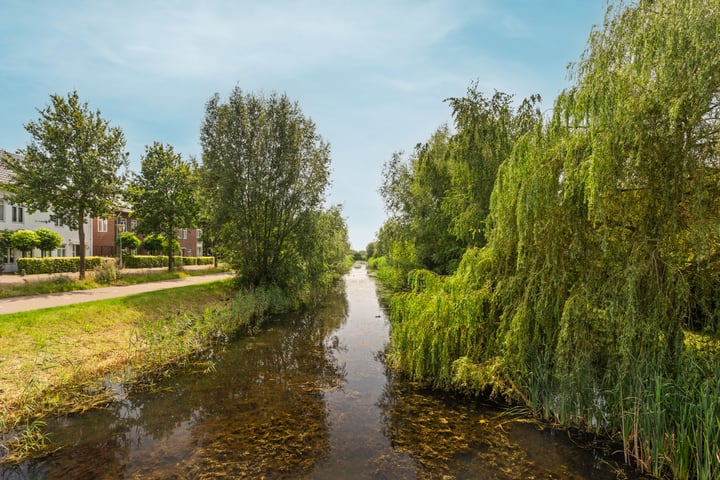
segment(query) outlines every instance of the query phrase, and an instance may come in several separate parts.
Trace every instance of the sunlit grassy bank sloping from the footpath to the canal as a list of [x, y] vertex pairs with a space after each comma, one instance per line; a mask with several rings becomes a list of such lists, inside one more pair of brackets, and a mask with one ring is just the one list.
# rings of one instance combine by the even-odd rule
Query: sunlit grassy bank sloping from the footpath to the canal
[[152, 382], [287, 305], [224, 281], [0, 316], [0, 461], [47, 452], [47, 418], [111, 401], [106, 375]]

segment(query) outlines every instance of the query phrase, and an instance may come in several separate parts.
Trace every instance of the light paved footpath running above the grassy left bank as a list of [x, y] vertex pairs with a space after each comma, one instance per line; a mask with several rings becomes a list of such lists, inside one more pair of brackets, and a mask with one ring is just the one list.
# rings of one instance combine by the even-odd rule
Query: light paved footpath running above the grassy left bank
[[61, 307], [74, 303], [94, 302], [108, 298], [126, 297], [137, 293], [154, 292], [168, 288], [185, 287], [201, 283], [215, 282], [232, 278], [231, 273], [214, 273], [196, 277], [175, 278], [160, 282], [140, 283], [137, 285], [124, 285], [120, 287], [100, 287], [90, 290], [74, 292], [50, 293], [45, 295], [32, 295], [29, 297], [13, 297], [0, 299], [0, 315], [6, 313], [26, 312], [41, 308]]

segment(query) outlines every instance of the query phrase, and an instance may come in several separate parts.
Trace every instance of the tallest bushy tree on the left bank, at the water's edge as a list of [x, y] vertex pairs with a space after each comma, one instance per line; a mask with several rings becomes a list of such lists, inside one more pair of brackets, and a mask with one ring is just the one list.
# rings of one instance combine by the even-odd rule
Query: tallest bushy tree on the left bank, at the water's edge
[[202, 125], [203, 200], [216, 249], [247, 285], [296, 286], [308, 222], [329, 185], [330, 149], [282, 94], [215, 95]]

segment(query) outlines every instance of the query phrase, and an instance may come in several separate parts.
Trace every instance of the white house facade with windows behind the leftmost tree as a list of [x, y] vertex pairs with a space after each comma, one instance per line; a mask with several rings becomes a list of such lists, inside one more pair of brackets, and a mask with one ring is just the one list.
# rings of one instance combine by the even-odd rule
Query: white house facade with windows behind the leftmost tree
[[[3, 155], [13, 155], [0, 150], [0, 159]], [[80, 255], [80, 235], [77, 230], [71, 230], [67, 225], [52, 220], [52, 212], [29, 213], [23, 205], [15, 205], [6, 200], [6, 190], [3, 185], [12, 181], [12, 172], [9, 171], [0, 161], [0, 230], [14, 232], [17, 230], [37, 230], [47, 228], [60, 234], [64, 242], [60, 248], [51, 252], [53, 257], [75, 257]], [[85, 254], [92, 252], [92, 222], [90, 219], [85, 223]], [[34, 250], [33, 257], [41, 256], [39, 250]], [[8, 248], [2, 255], [2, 272], [12, 273], [17, 271], [17, 259], [22, 256], [19, 250]], [[30, 256], [30, 252], [28, 255]]]

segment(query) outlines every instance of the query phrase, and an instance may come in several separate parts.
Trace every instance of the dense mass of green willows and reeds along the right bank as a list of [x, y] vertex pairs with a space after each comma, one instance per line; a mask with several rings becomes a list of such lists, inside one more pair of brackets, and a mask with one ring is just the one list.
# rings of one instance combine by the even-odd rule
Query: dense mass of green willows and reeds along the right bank
[[617, 2], [550, 118], [473, 85], [388, 164], [397, 368], [720, 475], [719, 35], [717, 1]]

